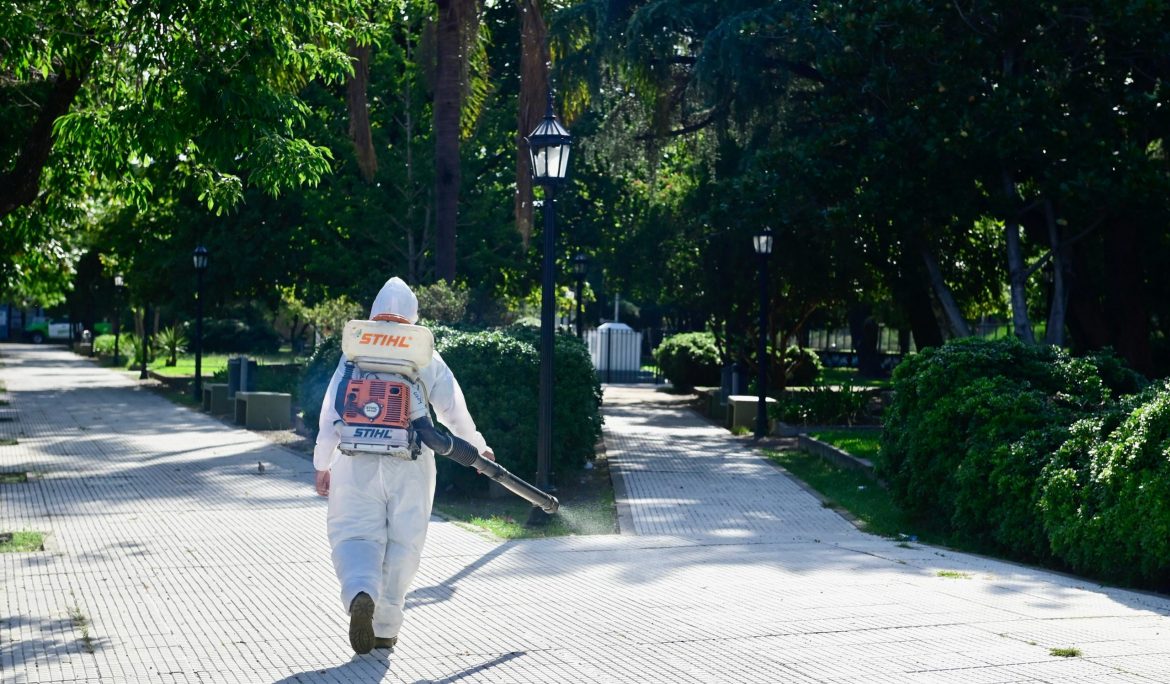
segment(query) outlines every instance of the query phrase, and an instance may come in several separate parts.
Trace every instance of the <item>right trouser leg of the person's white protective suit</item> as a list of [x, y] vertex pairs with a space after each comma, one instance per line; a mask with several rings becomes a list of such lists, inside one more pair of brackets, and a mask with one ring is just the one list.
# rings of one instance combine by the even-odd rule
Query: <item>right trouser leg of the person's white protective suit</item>
[[435, 462], [429, 449], [418, 461], [386, 460], [383, 478], [386, 546], [380, 559], [381, 592], [374, 600], [373, 630], [377, 636], [398, 636], [402, 627], [406, 592], [419, 569], [427, 521], [435, 493]]

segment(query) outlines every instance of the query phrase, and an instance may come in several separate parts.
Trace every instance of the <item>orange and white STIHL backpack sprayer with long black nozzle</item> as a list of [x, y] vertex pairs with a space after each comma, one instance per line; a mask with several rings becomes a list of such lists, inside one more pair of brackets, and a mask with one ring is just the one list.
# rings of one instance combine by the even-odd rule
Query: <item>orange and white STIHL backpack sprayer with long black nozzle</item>
[[426, 444], [440, 456], [475, 468], [545, 513], [557, 512], [557, 497], [480, 456], [466, 440], [435, 428], [426, 387], [419, 380], [434, 351], [429, 330], [383, 315], [351, 320], [342, 334], [342, 351], [347, 361], [333, 407], [340, 416], [336, 426], [343, 454], [415, 460]]

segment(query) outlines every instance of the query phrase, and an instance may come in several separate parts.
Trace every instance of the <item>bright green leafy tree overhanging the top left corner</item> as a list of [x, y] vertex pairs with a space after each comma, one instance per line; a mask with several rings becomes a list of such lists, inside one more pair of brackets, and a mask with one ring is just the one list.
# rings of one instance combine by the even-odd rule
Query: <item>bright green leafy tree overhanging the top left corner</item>
[[[0, 2], [0, 286], [29, 255], [83, 227], [88, 195], [150, 202], [153, 165], [215, 209], [246, 186], [318, 181], [325, 147], [297, 134], [297, 94], [349, 69], [351, 0]], [[68, 255], [58, 268], [68, 271]]]

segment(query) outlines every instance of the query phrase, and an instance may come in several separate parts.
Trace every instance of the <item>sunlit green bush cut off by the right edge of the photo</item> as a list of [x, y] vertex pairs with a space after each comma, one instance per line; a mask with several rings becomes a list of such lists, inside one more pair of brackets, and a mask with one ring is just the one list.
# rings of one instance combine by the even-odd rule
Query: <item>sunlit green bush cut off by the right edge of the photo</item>
[[1081, 420], [1044, 468], [1052, 552], [1079, 573], [1170, 589], [1170, 384]]

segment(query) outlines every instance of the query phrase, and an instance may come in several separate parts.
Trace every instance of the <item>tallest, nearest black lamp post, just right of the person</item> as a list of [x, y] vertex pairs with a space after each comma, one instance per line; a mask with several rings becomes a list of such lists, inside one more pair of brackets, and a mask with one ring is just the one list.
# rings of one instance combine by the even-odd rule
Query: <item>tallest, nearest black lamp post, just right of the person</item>
[[[572, 138], [552, 112], [552, 90], [549, 90], [549, 109], [544, 119], [528, 137], [528, 153], [531, 163], [532, 182], [544, 187], [544, 268], [541, 279], [541, 414], [537, 423], [536, 486], [549, 490], [550, 464], [552, 462], [552, 351], [555, 293], [553, 281], [557, 246], [556, 191], [564, 182], [569, 170], [569, 151]], [[549, 514], [534, 506], [529, 516], [530, 525], [548, 521]]]

